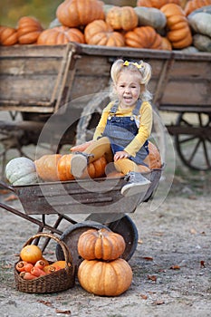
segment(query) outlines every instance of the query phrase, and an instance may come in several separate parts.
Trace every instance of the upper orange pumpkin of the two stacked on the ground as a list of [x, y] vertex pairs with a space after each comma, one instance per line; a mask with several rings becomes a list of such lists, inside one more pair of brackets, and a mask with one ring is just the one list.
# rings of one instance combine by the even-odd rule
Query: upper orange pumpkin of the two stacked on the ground
[[78, 240], [78, 253], [86, 260], [115, 260], [123, 254], [125, 247], [123, 236], [106, 228], [87, 230]]

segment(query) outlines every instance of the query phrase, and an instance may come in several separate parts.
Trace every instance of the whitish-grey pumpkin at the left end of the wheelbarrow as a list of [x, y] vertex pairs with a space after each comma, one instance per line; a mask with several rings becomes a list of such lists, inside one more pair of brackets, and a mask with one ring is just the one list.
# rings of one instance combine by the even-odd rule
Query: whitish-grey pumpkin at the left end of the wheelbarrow
[[11, 159], [5, 167], [5, 177], [14, 186], [38, 182], [34, 161], [27, 158]]

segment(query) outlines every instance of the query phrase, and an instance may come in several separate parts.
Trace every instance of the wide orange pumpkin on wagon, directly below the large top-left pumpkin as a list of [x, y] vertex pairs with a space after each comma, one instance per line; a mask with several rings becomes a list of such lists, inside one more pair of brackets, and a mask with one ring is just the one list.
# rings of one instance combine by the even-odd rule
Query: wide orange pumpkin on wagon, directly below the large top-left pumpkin
[[69, 42], [84, 43], [82, 31], [74, 27], [55, 26], [44, 30], [37, 39], [38, 45], [60, 45]]

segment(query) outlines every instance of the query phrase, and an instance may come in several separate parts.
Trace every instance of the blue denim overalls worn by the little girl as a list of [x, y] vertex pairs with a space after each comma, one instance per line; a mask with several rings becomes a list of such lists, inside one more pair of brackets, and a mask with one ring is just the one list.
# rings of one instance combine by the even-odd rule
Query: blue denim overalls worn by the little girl
[[[110, 139], [110, 146], [115, 154], [117, 151], [125, 149], [134, 136], [139, 132], [139, 127], [137, 126], [136, 119], [139, 116], [139, 109], [141, 107], [141, 101], [138, 100], [136, 107], [132, 111], [130, 117], [116, 117], [116, 112], [118, 110], [118, 102], [115, 102], [110, 109], [110, 115], [108, 117], [105, 130], [102, 134], [103, 137]], [[146, 165], [143, 160], [149, 155], [148, 140], [139, 149], [135, 157], [129, 157], [132, 161], [137, 164]]]

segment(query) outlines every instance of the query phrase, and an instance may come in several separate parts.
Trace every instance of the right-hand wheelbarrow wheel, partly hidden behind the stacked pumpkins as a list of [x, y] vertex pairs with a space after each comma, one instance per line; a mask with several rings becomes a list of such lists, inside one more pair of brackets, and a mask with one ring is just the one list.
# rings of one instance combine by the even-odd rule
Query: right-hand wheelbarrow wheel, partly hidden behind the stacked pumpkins
[[129, 261], [136, 251], [139, 234], [136, 225], [125, 214], [91, 214], [86, 220], [96, 221], [110, 228], [111, 231], [123, 236], [126, 248], [121, 257]]

